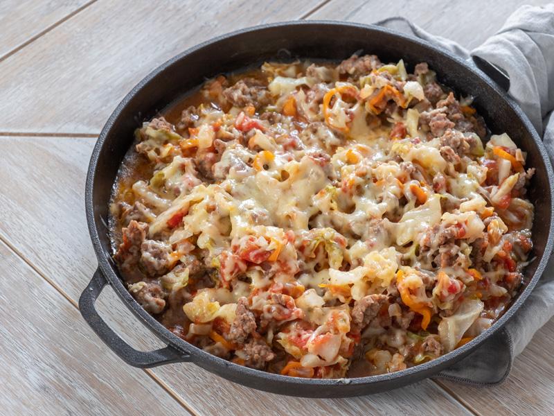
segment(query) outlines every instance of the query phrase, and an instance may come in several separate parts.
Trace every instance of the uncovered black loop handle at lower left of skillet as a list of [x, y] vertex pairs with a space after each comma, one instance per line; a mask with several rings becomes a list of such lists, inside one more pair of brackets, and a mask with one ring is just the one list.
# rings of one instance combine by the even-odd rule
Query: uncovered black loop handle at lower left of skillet
[[96, 335], [115, 352], [125, 363], [139, 368], [157, 367], [158, 365], [181, 363], [190, 361], [190, 354], [180, 352], [178, 349], [168, 345], [165, 348], [157, 349], [151, 352], [142, 352], [134, 349], [118, 336], [102, 318], [94, 307], [96, 299], [102, 289], [107, 285], [107, 281], [100, 272], [100, 269], [94, 273], [89, 286], [84, 289], [79, 298], [79, 310], [84, 320], [87, 321]]

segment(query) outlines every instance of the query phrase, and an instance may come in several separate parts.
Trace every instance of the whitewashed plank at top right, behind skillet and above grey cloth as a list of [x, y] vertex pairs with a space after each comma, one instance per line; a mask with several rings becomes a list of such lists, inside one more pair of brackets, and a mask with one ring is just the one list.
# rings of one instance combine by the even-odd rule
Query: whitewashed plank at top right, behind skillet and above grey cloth
[[[549, 0], [527, 0], [542, 6]], [[332, 0], [314, 12], [310, 19], [339, 19], [373, 23], [391, 16], [402, 16], [434, 35], [440, 35], [473, 49], [494, 35], [504, 21], [521, 6], [521, 0], [354, 0], [348, 7]]]

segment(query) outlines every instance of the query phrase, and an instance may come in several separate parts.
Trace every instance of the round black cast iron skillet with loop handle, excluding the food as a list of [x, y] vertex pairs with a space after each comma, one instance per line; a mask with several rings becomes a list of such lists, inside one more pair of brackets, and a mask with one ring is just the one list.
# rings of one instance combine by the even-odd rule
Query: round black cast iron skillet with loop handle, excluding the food
[[[123, 156], [132, 144], [134, 129], [142, 121], [155, 116], [168, 103], [219, 73], [261, 64], [264, 60], [343, 60], [355, 51], [375, 53], [384, 62], [396, 62], [403, 58], [412, 69], [418, 62], [428, 62], [429, 67], [437, 71], [441, 83], [456, 92], [475, 97], [475, 107], [493, 133], [508, 132], [517, 145], [527, 152], [528, 166], [534, 166], [537, 172], [528, 195], [535, 205], [534, 248], [531, 254], [534, 260], [526, 268], [524, 290], [500, 320], [470, 343], [428, 363], [379, 376], [320, 380], [269, 374], [224, 361], [186, 343], [135, 302], [111, 259], [107, 228], [109, 197]], [[334, 21], [294, 21], [245, 29], [195, 46], [161, 65], [136, 85], [111, 114], [93, 150], [87, 176], [87, 222], [98, 257], [98, 270], [80, 297], [80, 311], [98, 336], [123, 361], [135, 367], [192, 362], [226, 379], [253, 388], [305, 397], [367, 395], [398, 388], [437, 374], [460, 361], [501, 329], [521, 307], [537, 284], [553, 248], [553, 180], [546, 151], [530, 121], [506, 92], [474, 64], [468, 64], [422, 40], [377, 26]], [[167, 347], [153, 352], [139, 352], [107, 326], [94, 307], [96, 298], [107, 284], [146, 327], [168, 344]]]

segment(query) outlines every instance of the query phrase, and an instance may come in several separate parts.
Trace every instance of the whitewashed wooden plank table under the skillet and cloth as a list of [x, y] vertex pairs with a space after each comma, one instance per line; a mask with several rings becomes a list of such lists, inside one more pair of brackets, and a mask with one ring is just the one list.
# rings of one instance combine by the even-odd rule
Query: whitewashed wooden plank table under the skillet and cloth
[[[91, 150], [120, 99], [159, 64], [215, 35], [291, 19], [372, 22], [403, 15], [473, 47], [497, 31], [518, 3], [1, 1], [3, 414], [552, 414], [554, 322], [537, 333], [498, 387], [426, 380], [366, 397], [298, 399], [244, 388], [192, 364], [129, 367], [102, 344], [77, 309], [96, 269], [83, 201]], [[160, 345], [111, 291], [102, 293], [98, 307], [135, 347]]]

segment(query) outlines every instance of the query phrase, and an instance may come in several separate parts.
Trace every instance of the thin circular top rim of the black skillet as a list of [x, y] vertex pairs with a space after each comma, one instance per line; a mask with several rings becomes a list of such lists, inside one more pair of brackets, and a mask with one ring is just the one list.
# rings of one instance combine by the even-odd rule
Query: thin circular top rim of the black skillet
[[[515, 302], [513, 302], [510, 305], [510, 308], [505, 313], [503, 313], [501, 318], [496, 322], [494, 322], [494, 324], [492, 324], [492, 326], [489, 329], [486, 329], [485, 331], [483, 331], [483, 333], [481, 333], [479, 336], [471, 340], [469, 343], [463, 345], [462, 347], [454, 349], [452, 352], [444, 354], [443, 356], [435, 358], [434, 360], [428, 361], [427, 363], [423, 363], [420, 365], [415, 365], [414, 367], [410, 367], [406, 370], [400, 370], [400, 371], [392, 372], [388, 374], [379, 374], [375, 376], [364, 376], [364, 377], [356, 377], [356, 378], [349, 378], [349, 379], [300, 379], [297, 377], [283, 376], [280, 374], [269, 373], [262, 370], [254, 370], [249, 367], [244, 367], [242, 365], [231, 363], [230, 361], [226, 361], [222, 358], [209, 354], [208, 352], [204, 352], [202, 349], [199, 349], [198, 347], [195, 347], [194, 345], [187, 343], [186, 341], [182, 340], [175, 334], [171, 333], [168, 329], [166, 329], [166, 327], [163, 327], [163, 325], [160, 322], [155, 320], [154, 317], [152, 317], [152, 315], [146, 312], [142, 308], [142, 306], [140, 306], [139, 303], [136, 302], [136, 300], [134, 300], [134, 298], [129, 294], [129, 292], [125, 288], [123, 281], [121, 281], [121, 279], [118, 277], [117, 272], [115, 270], [115, 266], [112, 266], [110, 262], [110, 254], [105, 252], [105, 250], [102, 248], [102, 243], [100, 242], [98, 228], [96, 227], [96, 220], [94, 218], [93, 189], [94, 189], [96, 171], [98, 168], [100, 151], [105, 145], [107, 137], [109, 137], [109, 133], [111, 129], [114, 127], [114, 123], [116, 122], [116, 119], [118, 118], [120, 113], [123, 112], [125, 107], [127, 107], [127, 104], [129, 104], [129, 101], [131, 101], [132, 98], [135, 96], [135, 94], [137, 94], [143, 87], [145, 87], [146, 84], [154, 80], [154, 78], [156, 78], [161, 73], [163, 73], [163, 71], [168, 69], [172, 64], [175, 64], [175, 62], [186, 59], [187, 56], [190, 55], [191, 53], [197, 52], [210, 44], [215, 44], [216, 42], [220, 42], [222, 40], [228, 40], [231, 37], [240, 36], [247, 33], [255, 33], [257, 31], [280, 28], [283, 26], [289, 27], [289, 26], [319, 26], [319, 25], [337, 26], [337, 28], [348, 26], [348, 27], [363, 29], [364, 31], [373, 31], [373, 32], [384, 33], [387, 35], [393, 35], [394, 37], [399, 38], [403, 42], [406, 42], [406, 44], [415, 43], [415, 44], [418, 44], [419, 46], [424, 47], [425, 49], [430, 50], [431, 53], [443, 55], [444, 58], [454, 61], [454, 64], [458, 64], [459, 66], [464, 67], [467, 71], [470, 71], [472, 73], [472, 77], [481, 78], [481, 80], [484, 83], [486, 83], [489, 87], [491, 87], [497, 94], [499, 94], [499, 96], [504, 101], [506, 101], [506, 103], [508, 103], [508, 105], [512, 108], [515, 115], [519, 117], [524, 127], [526, 128], [526, 132], [528, 132], [530, 136], [533, 138], [533, 143], [536, 146], [538, 153], [542, 158], [542, 162], [544, 163], [544, 167], [546, 168], [546, 176], [549, 179], [548, 182], [550, 186], [548, 188], [548, 191], [550, 193], [551, 215], [549, 218], [550, 227], [549, 227], [548, 237], [544, 245], [544, 252], [541, 254], [541, 259], [539, 260], [539, 264], [537, 265], [537, 269], [535, 270], [533, 277], [531, 277], [531, 279], [526, 284], [525, 288], [521, 291], [521, 293], [519, 293], [517, 300], [515, 300]], [[112, 139], [112, 141], [113, 140], [114, 139]], [[120, 162], [118, 162], [118, 164], [120, 164]], [[470, 352], [474, 351], [474, 349], [479, 347], [479, 345], [484, 343], [485, 340], [488, 340], [490, 337], [492, 337], [494, 333], [497, 333], [497, 331], [501, 330], [503, 326], [506, 324], [506, 322], [508, 322], [508, 320], [510, 320], [510, 318], [512, 318], [512, 316], [515, 313], [517, 313], [517, 311], [521, 308], [522, 304], [524, 304], [525, 300], [533, 291], [533, 288], [535, 288], [537, 282], [542, 276], [542, 273], [546, 268], [546, 263], [548, 261], [548, 257], [550, 253], [552, 252], [552, 248], [554, 244], [554, 236], [553, 236], [554, 221], [553, 221], [553, 212], [552, 212], [552, 208], [554, 207], [553, 178], [554, 178], [554, 173], [550, 163], [550, 159], [546, 153], [546, 149], [544, 148], [544, 145], [542, 144], [542, 140], [540, 139], [533, 125], [530, 123], [530, 120], [528, 119], [526, 114], [524, 114], [524, 112], [521, 110], [521, 108], [519, 108], [519, 106], [515, 103], [515, 101], [513, 101], [512, 98], [508, 96], [507, 92], [504, 92], [501, 88], [499, 88], [499, 86], [496, 83], [494, 83], [483, 71], [481, 71], [481, 69], [476, 68], [473, 65], [467, 63], [465, 60], [459, 58], [458, 56], [454, 55], [450, 51], [447, 51], [446, 49], [443, 49], [441, 46], [431, 44], [417, 37], [406, 35], [404, 33], [400, 33], [398, 31], [394, 31], [389, 28], [376, 26], [374, 24], [359, 24], [359, 23], [353, 23], [349, 21], [332, 21], [332, 20], [280, 21], [273, 24], [262, 24], [258, 26], [251, 26], [249, 28], [240, 29], [238, 31], [226, 33], [224, 35], [220, 35], [210, 40], [207, 40], [206, 42], [197, 44], [196, 46], [193, 46], [187, 49], [186, 51], [179, 53], [178, 55], [171, 58], [170, 60], [167, 60], [159, 67], [151, 71], [137, 85], [135, 85], [135, 87], [133, 87], [133, 89], [128, 94], [125, 95], [125, 98], [123, 98], [123, 100], [118, 104], [114, 112], [112, 112], [112, 114], [109, 116], [109, 119], [105, 123], [104, 128], [102, 128], [102, 131], [98, 136], [96, 145], [91, 155], [91, 160], [89, 163], [89, 169], [87, 173], [87, 182], [85, 186], [85, 208], [87, 213], [87, 224], [89, 227], [89, 234], [91, 236], [91, 241], [93, 243], [93, 248], [94, 248], [96, 257], [98, 259], [98, 267], [100, 268], [102, 275], [105, 277], [105, 279], [107, 279], [111, 288], [114, 289], [114, 291], [118, 294], [118, 297], [120, 297], [120, 299], [123, 300], [126, 306], [134, 313], [136, 318], [139, 318], [139, 320], [143, 324], [145, 324], [145, 326], [148, 327], [150, 331], [152, 331], [158, 338], [168, 343], [168, 345], [178, 349], [179, 352], [189, 354], [190, 361], [192, 361], [196, 365], [199, 365], [200, 367], [208, 368], [209, 371], [212, 371], [211, 369], [213, 367], [220, 367], [220, 370], [222, 372], [228, 372], [228, 375], [229, 375], [229, 372], [231, 372], [231, 376], [234, 376], [233, 379], [240, 379], [243, 376], [247, 376], [252, 379], [257, 379], [261, 383], [256, 388], [260, 388], [261, 390], [274, 391], [274, 392], [277, 389], [266, 388], [266, 386], [268, 385], [267, 384], [268, 382], [269, 383], [277, 382], [280, 385], [289, 386], [289, 387], [298, 385], [298, 387], [301, 386], [304, 388], [307, 385], [355, 386], [355, 385], [373, 385], [373, 384], [379, 384], [382, 382], [391, 382], [395, 380], [398, 380], [400, 382], [402, 380], [404, 381], [404, 383], [399, 383], [398, 386], [400, 387], [401, 384], [402, 385], [408, 384], [408, 383], [423, 379], [427, 376], [432, 376], [437, 372], [439, 372], [440, 370], [444, 370], [448, 365], [452, 365], [457, 361], [460, 361], [462, 358], [470, 354]], [[238, 381], [238, 382], [241, 383], [241, 381]], [[251, 383], [244, 383], [244, 384], [251, 384]], [[294, 392], [287, 392], [287, 394], [291, 394], [291, 393], [292, 395], [294, 395]]]

